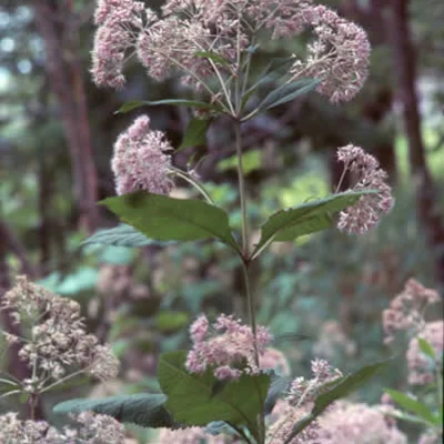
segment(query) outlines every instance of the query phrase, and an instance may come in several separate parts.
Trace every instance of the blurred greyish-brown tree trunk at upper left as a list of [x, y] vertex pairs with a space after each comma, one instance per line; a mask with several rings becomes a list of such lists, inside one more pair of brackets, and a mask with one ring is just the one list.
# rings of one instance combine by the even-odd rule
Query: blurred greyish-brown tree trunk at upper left
[[60, 115], [71, 154], [79, 224], [89, 232], [98, 223], [98, 178], [89, 128], [79, 21], [70, 1], [30, 0], [46, 50], [46, 71], [60, 105]]

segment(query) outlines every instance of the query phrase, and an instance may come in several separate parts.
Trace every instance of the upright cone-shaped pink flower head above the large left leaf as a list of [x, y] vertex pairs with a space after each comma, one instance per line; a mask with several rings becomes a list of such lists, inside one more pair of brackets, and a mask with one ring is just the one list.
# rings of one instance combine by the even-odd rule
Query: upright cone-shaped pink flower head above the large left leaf
[[114, 144], [111, 162], [118, 194], [145, 190], [169, 194], [173, 183], [169, 178], [171, 144], [161, 131], [150, 129], [150, 119], [141, 115], [121, 133]]

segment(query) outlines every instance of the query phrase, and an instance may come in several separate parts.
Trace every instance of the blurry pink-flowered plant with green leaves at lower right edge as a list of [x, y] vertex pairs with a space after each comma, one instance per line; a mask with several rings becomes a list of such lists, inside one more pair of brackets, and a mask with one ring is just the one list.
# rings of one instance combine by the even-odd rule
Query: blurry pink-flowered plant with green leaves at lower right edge
[[405, 357], [410, 387], [405, 387], [405, 393], [394, 389], [385, 391], [387, 412], [420, 425], [420, 444], [437, 444], [443, 440], [444, 321], [426, 320], [427, 309], [440, 302], [435, 290], [411, 279], [382, 316], [387, 344], [400, 332], [408, 341]]

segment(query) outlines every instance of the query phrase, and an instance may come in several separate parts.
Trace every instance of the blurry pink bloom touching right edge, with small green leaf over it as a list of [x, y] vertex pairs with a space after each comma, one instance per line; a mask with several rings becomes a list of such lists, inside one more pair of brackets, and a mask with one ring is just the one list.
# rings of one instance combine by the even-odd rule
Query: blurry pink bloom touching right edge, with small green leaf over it
[[[420, 347], [418, 337], [432, 345], [435, 359], [426, 356]], [[444, 322], [427, 322], [416, 337], [410, 341], [407, 350], [408, 383], [425, 385], [435, 380], [436, 366], [443, 371]]]

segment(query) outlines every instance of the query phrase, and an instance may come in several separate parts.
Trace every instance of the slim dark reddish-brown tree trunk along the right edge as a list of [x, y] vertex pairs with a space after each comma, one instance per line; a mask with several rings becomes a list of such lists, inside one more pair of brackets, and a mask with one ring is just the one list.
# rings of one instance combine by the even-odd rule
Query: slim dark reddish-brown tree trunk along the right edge
[[434, 253], [436, 279], [444, 285], [444, 225], [436, 204], [436, 191], [426, 164], [416, 94], [416, 60], [408, 27], [408, 0], [391, 0], [390, 29], [396, 65], [398, 99], [403, 105], [408, 140], [408, 159], [416, 188], [418, 220]]

